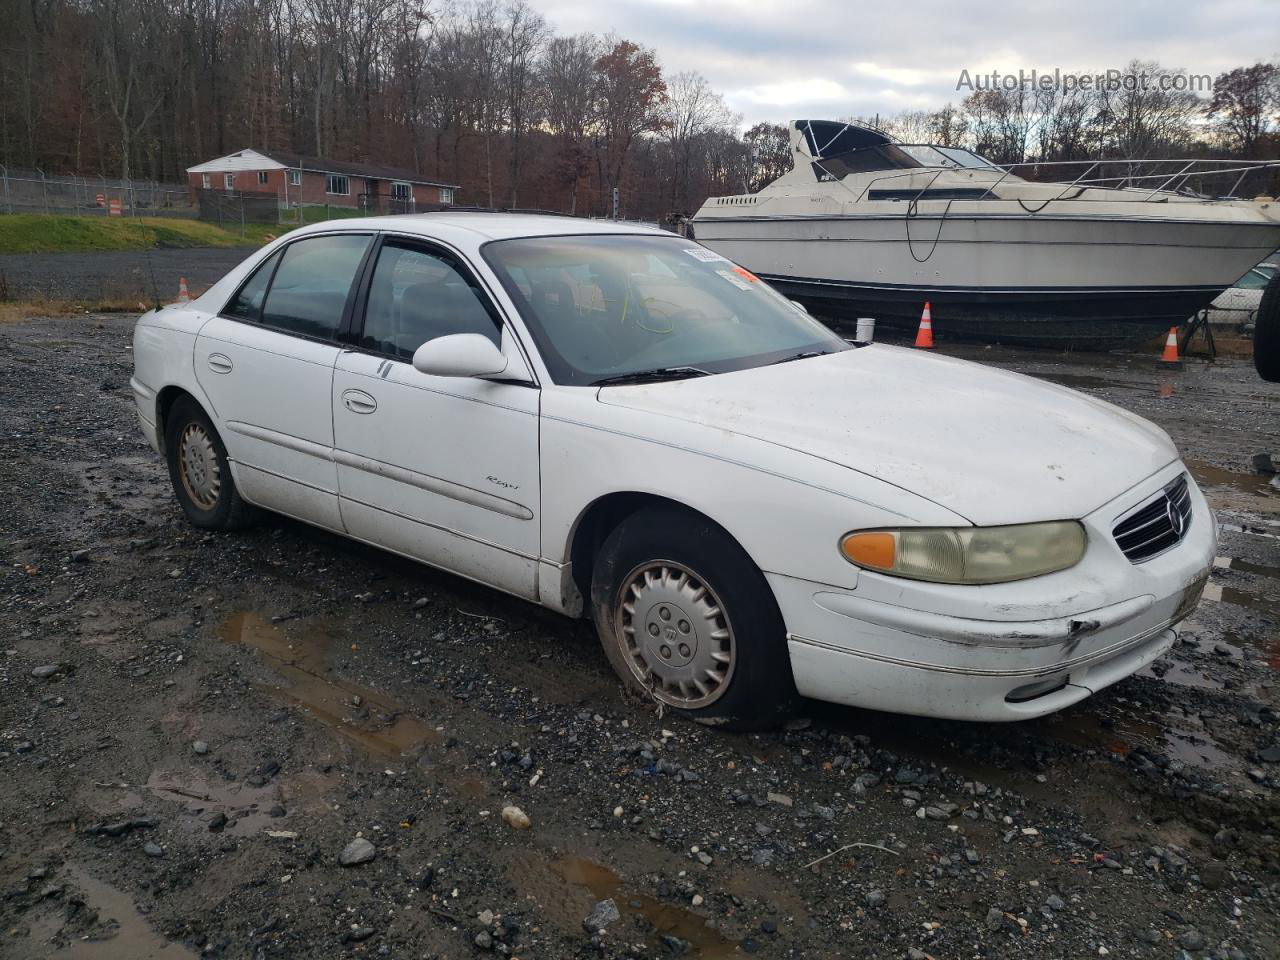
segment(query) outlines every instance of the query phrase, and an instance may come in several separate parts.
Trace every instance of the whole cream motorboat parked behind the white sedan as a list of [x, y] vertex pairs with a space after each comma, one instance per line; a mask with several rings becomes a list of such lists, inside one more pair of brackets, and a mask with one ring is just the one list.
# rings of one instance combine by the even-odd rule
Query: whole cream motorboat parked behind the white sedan
[[1280, 202], [1230, 196], [1276, 163], [1001, 166], [828, 120], [795, 122], [791, 151], [758, 193], [709, 198], [694, 236], [837, 320], [914, 328], [931, 301], [941, 335], [1112, 346], [1184, 323], [1280, 246]]

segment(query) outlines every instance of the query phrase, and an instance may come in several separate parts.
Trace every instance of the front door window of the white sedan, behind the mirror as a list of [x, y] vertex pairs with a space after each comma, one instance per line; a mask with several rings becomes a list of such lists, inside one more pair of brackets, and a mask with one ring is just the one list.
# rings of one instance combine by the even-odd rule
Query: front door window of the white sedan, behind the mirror
[[396, 241], [383, 243], [369, 287], [360, 346], [412, 360], [428, 340], [477, 333], [500, 346], [485, 294], [439, 253]]

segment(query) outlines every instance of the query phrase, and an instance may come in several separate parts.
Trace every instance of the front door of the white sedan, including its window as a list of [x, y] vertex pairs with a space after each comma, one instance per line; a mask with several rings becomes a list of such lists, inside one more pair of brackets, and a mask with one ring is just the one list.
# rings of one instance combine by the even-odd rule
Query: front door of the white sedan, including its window
[[436, 567], [536, 596], [538, 410], [530, 384], [429, 376], [426, 340], [506, 334], [452, 255], [390, 239], [378, 251], [356, 346], [333, 380], [334, 460], [347, 530]]

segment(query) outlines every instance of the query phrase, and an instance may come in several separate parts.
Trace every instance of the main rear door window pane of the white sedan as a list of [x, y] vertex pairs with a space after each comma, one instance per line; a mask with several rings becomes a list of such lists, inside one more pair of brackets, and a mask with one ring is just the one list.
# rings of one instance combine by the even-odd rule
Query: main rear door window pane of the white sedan
[[311, 237], [284, 248], [262, 307], [262, 324], [303, 337], [334, 339], [367, 236]]

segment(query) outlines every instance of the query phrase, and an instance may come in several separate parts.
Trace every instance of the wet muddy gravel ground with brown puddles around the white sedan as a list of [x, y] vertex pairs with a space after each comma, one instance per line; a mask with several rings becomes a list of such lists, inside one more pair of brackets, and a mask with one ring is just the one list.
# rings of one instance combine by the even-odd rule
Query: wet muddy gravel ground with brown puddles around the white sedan
[[1178, 442], [1222, 538], [1170, 657], [1030, 723], [735, 736], [623, 699], [584, 623], [187, 526], [131, 325], [0, 328], [0, 956], [1280, 956], [1280, 388], [1248, 362], [943, 347]]

